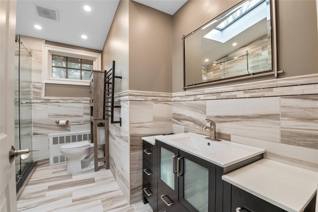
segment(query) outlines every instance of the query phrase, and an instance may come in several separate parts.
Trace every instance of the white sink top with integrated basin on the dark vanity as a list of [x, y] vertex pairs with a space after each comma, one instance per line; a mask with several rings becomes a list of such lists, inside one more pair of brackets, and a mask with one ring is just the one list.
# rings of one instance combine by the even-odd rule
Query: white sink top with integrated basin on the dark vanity
[[221, 167], [230, 166], [265, 152], [264, 149], [231, 141], [209, 140], [204, 135], [191, 132], [159, 135], [155, 139]]

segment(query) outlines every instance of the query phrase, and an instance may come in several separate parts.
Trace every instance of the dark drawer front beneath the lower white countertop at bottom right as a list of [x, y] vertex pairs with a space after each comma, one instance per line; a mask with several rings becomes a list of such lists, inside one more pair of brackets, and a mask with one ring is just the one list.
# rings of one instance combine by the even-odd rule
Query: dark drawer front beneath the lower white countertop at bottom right
[[232, 185], [231, 212], [236, 212], [238, 207], [242, 209], [241, 212], [284, 212], [283, 209]]

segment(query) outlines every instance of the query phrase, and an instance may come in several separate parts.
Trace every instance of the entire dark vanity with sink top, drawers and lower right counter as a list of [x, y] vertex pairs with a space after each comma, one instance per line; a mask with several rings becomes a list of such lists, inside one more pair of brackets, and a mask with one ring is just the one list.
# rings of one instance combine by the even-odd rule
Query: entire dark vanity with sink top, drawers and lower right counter
[[154, 212], [314, 212], [318, 173], [203, 135], [143, 137], [143, 201]]

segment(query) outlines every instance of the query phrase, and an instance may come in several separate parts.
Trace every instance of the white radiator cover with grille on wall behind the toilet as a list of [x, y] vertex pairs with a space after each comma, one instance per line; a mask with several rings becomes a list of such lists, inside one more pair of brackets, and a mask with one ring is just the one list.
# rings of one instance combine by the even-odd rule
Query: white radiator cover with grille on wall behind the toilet
[[90, 141], [90, 131], [49, 134], [50, 165], [68, 161], [60, 151], [62, 145], [84, 140]]

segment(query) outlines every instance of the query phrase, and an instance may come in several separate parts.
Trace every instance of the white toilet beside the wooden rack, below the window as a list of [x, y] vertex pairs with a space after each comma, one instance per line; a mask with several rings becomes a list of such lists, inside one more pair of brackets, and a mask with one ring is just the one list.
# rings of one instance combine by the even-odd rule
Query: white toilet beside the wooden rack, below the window
[[[72, 142], [61, 146], [60, 151], [68, 158], [68, 173], [82, 172], [94, 168], [94, 144], [86, 141]], [[98, 157], [103, 151], [98, 149]], [[98, 162], [98, 167], [104, 162]]]

